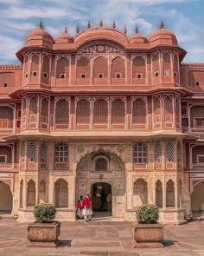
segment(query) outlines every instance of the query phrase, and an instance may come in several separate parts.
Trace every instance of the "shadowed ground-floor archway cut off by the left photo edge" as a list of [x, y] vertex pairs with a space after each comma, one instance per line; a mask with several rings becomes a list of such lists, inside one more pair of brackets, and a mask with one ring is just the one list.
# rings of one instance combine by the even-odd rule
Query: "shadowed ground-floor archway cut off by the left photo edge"
[[13, 208], [13, 195], [10, 185], [0, 181], [0, 213], [11, 213]]

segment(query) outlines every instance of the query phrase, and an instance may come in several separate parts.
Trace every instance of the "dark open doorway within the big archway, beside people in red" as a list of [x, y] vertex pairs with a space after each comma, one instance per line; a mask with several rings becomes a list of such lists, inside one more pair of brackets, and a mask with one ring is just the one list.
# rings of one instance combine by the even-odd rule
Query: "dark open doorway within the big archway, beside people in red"
[[112, 186], [106, 182], [96, 182], [92, 184], [91, 195], [93, 213], [106, 213], [106, 216], [111, 216]]

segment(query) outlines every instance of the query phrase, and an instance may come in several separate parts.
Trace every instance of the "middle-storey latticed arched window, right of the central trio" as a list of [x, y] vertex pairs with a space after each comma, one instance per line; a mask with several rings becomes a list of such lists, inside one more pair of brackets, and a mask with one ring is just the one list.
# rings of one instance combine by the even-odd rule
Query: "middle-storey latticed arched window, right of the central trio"
[[132, 106], [132, 122], [134, 124], [146, 123], [146, 102], [138, 98]]

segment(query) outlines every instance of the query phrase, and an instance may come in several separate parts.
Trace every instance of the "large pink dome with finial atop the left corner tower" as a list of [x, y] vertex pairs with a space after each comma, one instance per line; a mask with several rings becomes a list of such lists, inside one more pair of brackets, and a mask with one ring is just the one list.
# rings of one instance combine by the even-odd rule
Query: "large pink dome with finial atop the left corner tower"
[[26, 38], [25, 46], [46, 46], [52, 48], [54, 43], [53, 36], [51, 36], [40, 22], [39, 28], [29, 32]]

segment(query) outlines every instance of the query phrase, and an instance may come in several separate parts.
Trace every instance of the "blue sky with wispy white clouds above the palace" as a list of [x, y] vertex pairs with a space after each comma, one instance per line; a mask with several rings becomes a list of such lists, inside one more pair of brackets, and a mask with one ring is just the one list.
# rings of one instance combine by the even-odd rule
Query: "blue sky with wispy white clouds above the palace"
[[104, 26], [135, 31], [145, 36], [156, 30], [161, 20], [173, 30], [180, 46], [188, 51], [183, 62], [204, 62], [204, 0], [0, 0], [0, 63], [17, 63], [15, 53], [22, 48], [30, 30], [40, 19], [52, 36], [68, 32], [75, 36], [90, 20], [92, 26], [102, 18]]

